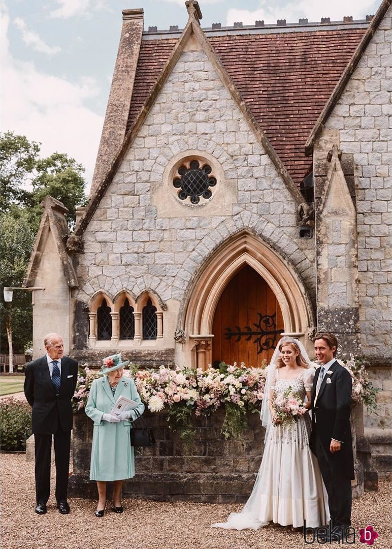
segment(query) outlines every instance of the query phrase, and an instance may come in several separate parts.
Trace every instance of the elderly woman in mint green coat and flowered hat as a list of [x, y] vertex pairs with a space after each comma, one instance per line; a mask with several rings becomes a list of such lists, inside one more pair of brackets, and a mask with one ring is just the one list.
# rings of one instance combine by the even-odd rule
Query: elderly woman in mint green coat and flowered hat
[[[124, 367], [121, 354], [104, 358], [101, 372], [103, 378], [94, 379], [86, 405], [86, 414], [94, 422], [93, 445], [91, 451], [90, 480], [96, 480], [98, 506], [96, 517], [103, 517], [106, 506], [106, 481], [113, 481], [113, 507], [115, 513], [122, 513], [121, 487], [124, 479], [135, 475], [133, 447], [130, 445], [131, 422], [137, 419], [137, 412], [144, 412], [133, 379], [123, 376]], [[119, 396], [126, 396], [138, 402], [128, 412], [111, 413]]]

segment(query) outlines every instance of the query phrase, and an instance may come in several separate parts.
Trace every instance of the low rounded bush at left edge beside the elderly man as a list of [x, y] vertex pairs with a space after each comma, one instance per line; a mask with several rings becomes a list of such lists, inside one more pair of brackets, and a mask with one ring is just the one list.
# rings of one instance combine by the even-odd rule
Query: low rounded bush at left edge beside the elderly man
[[31, 435], [31, 408], [26, 402], [12, 397], [0, 404], [0, 440], [2, 450], [26, 450], [26, 440]]

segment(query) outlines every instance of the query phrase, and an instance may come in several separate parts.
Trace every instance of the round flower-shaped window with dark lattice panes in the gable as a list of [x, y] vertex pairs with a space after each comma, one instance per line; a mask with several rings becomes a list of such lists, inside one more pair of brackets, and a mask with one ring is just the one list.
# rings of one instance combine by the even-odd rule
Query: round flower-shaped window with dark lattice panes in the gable
[[215, 187], [217, 180], [211, 176], [212, 167], [198, 160], [191, 160], [189, 165], [181, 164], [178, 176], [174, 177], [173, 186], [179, 189], [177, 195], [180, 200], [187, 200], [191, 204], [200, 203], [200, 198], [208, 200], [212, 197], [210, 187]]

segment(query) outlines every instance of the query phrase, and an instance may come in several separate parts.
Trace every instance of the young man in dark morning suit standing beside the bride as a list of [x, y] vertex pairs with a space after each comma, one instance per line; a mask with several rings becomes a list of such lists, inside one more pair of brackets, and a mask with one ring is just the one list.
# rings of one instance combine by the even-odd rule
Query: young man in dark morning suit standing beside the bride
[[350, 373], [334, 358], [338, 341], [333, 334], [316, 335], [315, 354], [321, 367], [314, 377], [310, 449], [317, 456], [328, 493], [334, 536], [351, 524], [351, 480], [354, 479], [350, 405]]

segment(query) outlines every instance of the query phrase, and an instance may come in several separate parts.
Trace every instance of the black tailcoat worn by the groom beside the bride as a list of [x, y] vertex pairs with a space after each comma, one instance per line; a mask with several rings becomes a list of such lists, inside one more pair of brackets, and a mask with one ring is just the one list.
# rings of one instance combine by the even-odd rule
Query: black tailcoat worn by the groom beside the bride
[[[350, 427], [353, 382], [347, 369], [340, 366], [337, 361], [333, 362], [332, 366], [328, 368], [328, 372], [331, 371], [332, 373], [325, 373], [316, 404], [314, 404], [320, 371], [321, 368], [317, 368], [311, 394], [312, 432], [309, 443], [310, 449], [314, 454], [316, 453], [316, 435], [318, 434], [332, 470], [339, 470], [340, 474], [343, 473], [353, 480], [354, 457]], [[331, 383], [327, 383], [328, 379], [331, 380]], [[338, 452], [332, 453], [329, 451], [331, 439], [343, 443]]]

